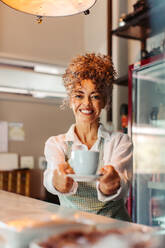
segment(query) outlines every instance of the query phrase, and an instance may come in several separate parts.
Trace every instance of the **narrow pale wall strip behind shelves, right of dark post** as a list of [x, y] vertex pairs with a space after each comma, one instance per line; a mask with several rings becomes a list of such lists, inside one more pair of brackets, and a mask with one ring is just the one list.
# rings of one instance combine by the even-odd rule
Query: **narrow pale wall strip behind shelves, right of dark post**
[[[122, 13], [127, 13], [127, 2], [122, 0], [113, 0], [113, 26], [112, 29], [118, 27], [119, 17]], [[118, 77], [127, 75], [128, 73], [128, 41], [126, 39], [112, 37], [112, 59], [117, 70]], [[120, 129], [120, 106], [122, 103], [128, 103], [128, 87], [114, 85], [113, 101], [112, 101], [112, 120], [113, 129]]]

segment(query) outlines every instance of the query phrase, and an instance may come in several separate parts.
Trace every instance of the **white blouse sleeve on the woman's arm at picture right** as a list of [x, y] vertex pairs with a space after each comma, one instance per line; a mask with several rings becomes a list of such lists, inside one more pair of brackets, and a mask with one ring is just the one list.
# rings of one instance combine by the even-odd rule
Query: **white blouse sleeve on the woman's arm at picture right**
[[127, 134], [118, 133], [112, 136], [110, 143], [107, 144], [104, 151], [107, 156], [105, 158], [105, 166], [112, 165], [120, 176], [120, 188], [116, 194], [111, 196], [103, 195], [99, 190], [99, 182], [96, 183], [98, 199], [100, 201], [118, 200], [126, 198], [129, 186], [132, 180], [132, 164], [133, 164], [133, 145]]

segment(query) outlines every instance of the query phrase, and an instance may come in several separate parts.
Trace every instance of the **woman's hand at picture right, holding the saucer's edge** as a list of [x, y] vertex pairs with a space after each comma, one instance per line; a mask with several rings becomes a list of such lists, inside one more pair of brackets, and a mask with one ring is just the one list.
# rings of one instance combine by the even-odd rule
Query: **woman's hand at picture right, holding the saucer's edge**
[[106, 165], [100, 170], [100, 173], [103, 174], [99, 180], [100, 191], [107, 196], [117, 193], [117, 190], [120, 188], [120, 176], [114, 167]]

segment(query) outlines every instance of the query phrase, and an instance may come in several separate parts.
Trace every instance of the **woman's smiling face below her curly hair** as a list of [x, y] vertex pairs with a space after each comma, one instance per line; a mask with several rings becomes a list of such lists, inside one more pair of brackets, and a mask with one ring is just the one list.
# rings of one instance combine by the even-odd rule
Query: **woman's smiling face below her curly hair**
[[70, 106], [76, 123], [97, 123], [104, 99], [92, 80], [86, 79], [76, 84], [70, 96]]

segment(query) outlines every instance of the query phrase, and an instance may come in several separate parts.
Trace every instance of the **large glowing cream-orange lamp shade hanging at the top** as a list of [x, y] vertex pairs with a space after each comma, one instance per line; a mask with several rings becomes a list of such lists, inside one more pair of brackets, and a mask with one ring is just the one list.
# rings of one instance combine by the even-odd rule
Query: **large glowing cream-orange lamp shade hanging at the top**
[[96, 0], [0, 0], [9, 7], [36, 16], [68, 16], [91, 8]]

